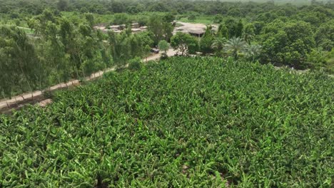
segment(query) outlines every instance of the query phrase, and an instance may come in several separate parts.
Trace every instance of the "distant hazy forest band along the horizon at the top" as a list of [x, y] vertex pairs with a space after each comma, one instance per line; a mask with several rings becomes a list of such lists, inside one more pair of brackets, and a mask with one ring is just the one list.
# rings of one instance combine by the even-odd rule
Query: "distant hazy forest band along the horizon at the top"
[[[263, 1], [262, 1], [263, 2]], [[277, 4], [278, 3], [278, 4]], [[255, 1], [246, 1], [243, 3], [233, 1], [201, 1], [201, 0], [18, 0], [8, 1], [0, 0], [0, 13], [11, 14], [12, 17], [18, 14], [38, 15], [44, 9], [57, 9], [58, 11], [81, 11], [81, 13], [96, 14], [114, 14], [128, 13], [138, 14], [143, 11], [174, 11], [182, 14], [186, 11], [192, 11], [200, 14], [221, 14], [223, 16], [246, 17], [257, 16], [268, 11], [278, 9], [290, 9], [293, 14], [295, 6], [292, 4], [279, 5], [280, 1], [273, 0], [265, 3], [256, 3]], [[300, 9], [305, 9], [308, 5], [326, 6], [333, 8], [333, 0], [328, 1], [305, 1]]]

